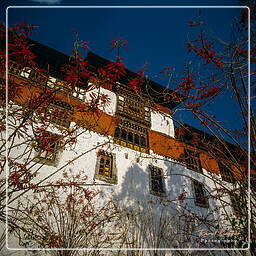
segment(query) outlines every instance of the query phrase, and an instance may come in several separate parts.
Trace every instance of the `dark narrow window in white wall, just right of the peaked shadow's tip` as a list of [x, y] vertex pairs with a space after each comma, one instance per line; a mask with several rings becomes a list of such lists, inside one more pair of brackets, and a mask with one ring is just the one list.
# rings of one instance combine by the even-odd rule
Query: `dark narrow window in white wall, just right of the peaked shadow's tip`
[[163, 169], [149, 165], [149, 190], [156, 196], [165, 196], [165, 182]]

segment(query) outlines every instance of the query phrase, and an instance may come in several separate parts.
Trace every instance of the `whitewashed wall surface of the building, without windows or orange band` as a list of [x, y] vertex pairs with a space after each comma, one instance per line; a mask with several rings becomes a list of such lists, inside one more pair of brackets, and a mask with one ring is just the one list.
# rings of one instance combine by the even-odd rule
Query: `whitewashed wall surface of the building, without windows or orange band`
[[[100, 93], [107, 94], [111, 101], [110, 105], [102, 109], [102, 111], [109, 115], [114, 115], [116, 109], [115, 93], [103, 88], [100, 90]], [[152, 130], [174, 137], [173, 120], [170, 116], [152, 111], [151, 124]], [[57, 129], [54, 127], [50, 130], [51, 132], [57, 133]], [[15, 143], [20, 144], [20, 142], [22, 142], [22, 139], [17, 140]], [[109, 184], [109, 186], [104, 186], [103, 184], [108, 183], [97, 179], [94, 180], [97, 152], [100, 149], [115, 154], [118, 176], [118, 183], [116, 185]], [[12, 151], [12, 155], [21, 156], [23, 152], [24, 145], [21, 144]], [[36, 152], [34, 152], [30, 158], [32, 159], [35, 154]], [[77, 158], [79, 155], [81, 155], [81, 157]], [[26, 156], [28, 156], [28, 154], [24, 157]], [[114, 144], [112, 138], [101, 136], [92, 131], [84, 131], [83, 134], [78, 137], [75, 148], [63, 150], [63, 152], [59, 153], [58, 158], [59, 161], [56, 167], [48, 165], [41, 166], [41, 164], [35, 164], [34, 161], [31, 162], [33, 169], [40, 167], [35, 182], [42, 180], [53, 173], [55, 174], [51, 179], [58, 180], [62, 177], [63, 171], [70, 169], [74, 175], [79, 171], [82, 171], [82, 173], [88, 177], [86, 180], [87, 183], [95, 183], [93, 188], [100, 191], [99, 204], [113, 198], [120, 207], [143, 210], [150, 202], [156, 203], [156, 207], [158, 207], [159, 203], [166, 203], [167, 207], [169, 207], [168, 204], [172, 205], [170, 211], [176, 211], [177, 213], [182, 211], [183, 207], [188, 207], [188, 209], [196, 215], [202, 217], [209, 215], [212, 209], [219, 206], [214, 199], [209, 199], [209, 208], [198, 207], [195, 205], [192, 179], [202, 182], [210, 194], [217, 186], [214, 184], [211, 177], [206, 177], [209, 176], [209, 173], [206, 172], [206, 170], [203, 170], [204, 174], [206, 174], [205, 176], [204, 174], [188, 170], [184, 165], [177, 163], [172, 159], [156, 155], [152, 151], [150, 151], [150, 154], [145, 154], [126, 147], [121, 147]], [[77, 159], [71, 162], [74, 158]], [[19, 159], [19, 161], [22, 162], [22, 158]], [[69, 162], [70, 164], [67, 165]], [[166, 187], [166, 197], [164, 198], [150, 194], [149, 165], [160, 167], [164, 171], [164, 182]], [[92, 187], [90, 186], [90, 188]], [[187, 196], [186, 199], [181, 202], [177, 200], [177, 198], [180, 193], [184, 191], [187, 192]], [[176, 209], [173, 209], [173, 207]], [[219, 213], [215, 212], [211, 218], [218, 217]], [[10, 246], [16, 247], [17, 244], [14, 244], [13, 242], [10, 243]]]

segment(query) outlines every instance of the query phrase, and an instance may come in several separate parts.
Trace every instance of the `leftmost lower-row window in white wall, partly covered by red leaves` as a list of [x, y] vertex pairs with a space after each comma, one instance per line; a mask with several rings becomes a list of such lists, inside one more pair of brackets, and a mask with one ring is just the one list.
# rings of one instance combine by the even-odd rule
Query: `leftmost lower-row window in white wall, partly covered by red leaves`
[[33, 147], [36, 152], [36, 161], [56, 166], [58, 154], [61, 148], [61, 137], [48, 131], [40, 131], [35, 134]]

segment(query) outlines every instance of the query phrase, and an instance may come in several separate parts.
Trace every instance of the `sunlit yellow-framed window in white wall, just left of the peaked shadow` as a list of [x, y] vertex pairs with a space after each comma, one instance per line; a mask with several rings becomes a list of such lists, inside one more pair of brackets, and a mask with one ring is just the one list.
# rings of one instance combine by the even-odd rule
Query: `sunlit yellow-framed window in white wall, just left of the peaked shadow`
[[97, 153], [95, 178], [109, 183], [117, 183], [115, 155], [104, 150]]

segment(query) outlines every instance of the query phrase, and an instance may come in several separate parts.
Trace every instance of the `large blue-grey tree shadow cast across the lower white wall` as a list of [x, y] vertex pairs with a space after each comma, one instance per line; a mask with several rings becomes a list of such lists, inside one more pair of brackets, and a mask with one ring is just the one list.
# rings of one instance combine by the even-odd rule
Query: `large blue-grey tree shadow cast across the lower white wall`
[[[113, 195], [123, 209], [123, 227], [127, 232], [124, 247], [197, 248], [200, 247], [198, 239], [202, 238], [199, 230], [214, 231], [212, 210], [216, 202], [208, 199], [209, 208], [196, 206], [192, 188], [192, 179], [195, 179], [209, 190], [207, 178], [176, 163], [166, 161], [164, 164], [167, 167], [166, 197], [150, 194], [148, 169], [139, 164], [132, 164], [127, 169], [120, 181], [120, 190]], [[187, 196], [179, 200], [184, 190]]]

